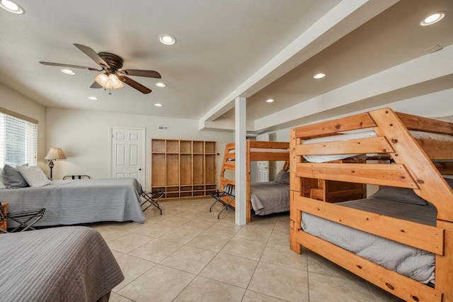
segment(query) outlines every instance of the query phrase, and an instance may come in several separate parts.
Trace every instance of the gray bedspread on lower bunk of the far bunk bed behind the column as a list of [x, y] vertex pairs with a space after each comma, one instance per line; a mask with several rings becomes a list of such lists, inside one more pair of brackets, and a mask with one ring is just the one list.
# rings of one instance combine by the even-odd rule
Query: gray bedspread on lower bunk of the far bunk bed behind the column
[[250, 201], [256, 215], [289, 211], [289, 184], [256, 182], [250, 186]]

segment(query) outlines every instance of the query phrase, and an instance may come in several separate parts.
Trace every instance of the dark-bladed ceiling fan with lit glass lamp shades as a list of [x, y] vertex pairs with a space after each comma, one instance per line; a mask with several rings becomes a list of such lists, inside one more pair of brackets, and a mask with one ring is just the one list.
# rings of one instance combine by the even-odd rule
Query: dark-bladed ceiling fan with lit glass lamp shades
[[[115, 55], [110, 52], [96, 52], [91, 47], [74, 43], [74, 46], [79, 48], [85, 55], [91, 57], [91, 60], [96, 62], [101, 69], [96, 69], [92, 67], [85, 67], [79, 65], [69, 65], [69, 64], [60, 64], [52, 62], [40, 62], [43, 65], [52, 65], [60, 67], [69, 67], [69, 68], [80, 68], [88, 69], [96, 72], [103, 72], [96, 77], [96, 81], [91, 84], [91, 88], [104, 88], [104, 89], [116, 89], [122, 87], [122, 83], [125, 83], [131, 86], [134, 89], [142, 92], [142, 94], [149, 94], [151, 89], [143, 86], [142, 84], [135, 82], [129, 76], [136, 77], [152, 77], [156, 79], [161, 79], [161, 74], [155, 72], [154, 70], [141, 70], [141, 69], [124, 69], [122, 68], [122, 57]], [[119, 80], [119, 81], [118, 81]]]

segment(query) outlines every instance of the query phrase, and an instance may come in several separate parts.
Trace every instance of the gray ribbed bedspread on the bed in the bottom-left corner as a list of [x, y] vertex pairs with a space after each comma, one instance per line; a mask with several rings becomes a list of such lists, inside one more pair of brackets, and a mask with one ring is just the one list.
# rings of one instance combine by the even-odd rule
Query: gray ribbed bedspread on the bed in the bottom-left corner
[[82, 226], [0, 235], [0, 301], [96, 301], [124, 279], [98, 231]]

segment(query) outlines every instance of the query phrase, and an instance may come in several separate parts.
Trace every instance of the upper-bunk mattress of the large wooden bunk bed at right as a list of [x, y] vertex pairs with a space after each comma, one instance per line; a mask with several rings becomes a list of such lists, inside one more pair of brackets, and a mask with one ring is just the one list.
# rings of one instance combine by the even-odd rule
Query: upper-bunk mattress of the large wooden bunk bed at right
[[[451, 142], [453, 141], [453, 135], [438, 134], [438, 133], [427, 133], [423, 131], [411, 130], [409, 131], [413, 138], [425, 139], [425, 140], [442, 140]], [[361, 138], [376, 138], [377, 134], [374, 130], [366, 130], [354, 133], [343, 133], [340, 135], [332, 135], [323, 138], [313, 138], [311, 140], [304, 140], [302, 144], [313, 144], [316, 142], [334, 142], [340, 140], [357, 140]], [[308, 162], [330, 162], [333, 160], [344, 160], [348, 157], [366, 157], [375, 156], [372, 155], [358, 155], [358, 154], [333, 154], [333, 155], [303, 155], [304, 159]]]

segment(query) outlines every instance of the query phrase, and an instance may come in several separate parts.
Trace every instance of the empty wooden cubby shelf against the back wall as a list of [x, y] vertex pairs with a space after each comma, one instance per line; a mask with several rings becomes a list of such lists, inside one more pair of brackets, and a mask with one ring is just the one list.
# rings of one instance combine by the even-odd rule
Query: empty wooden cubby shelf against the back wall
[[210, 196], [217, 188], [217, 142], [151, 140], [151, 189], [164, 199]]

